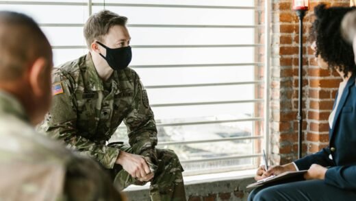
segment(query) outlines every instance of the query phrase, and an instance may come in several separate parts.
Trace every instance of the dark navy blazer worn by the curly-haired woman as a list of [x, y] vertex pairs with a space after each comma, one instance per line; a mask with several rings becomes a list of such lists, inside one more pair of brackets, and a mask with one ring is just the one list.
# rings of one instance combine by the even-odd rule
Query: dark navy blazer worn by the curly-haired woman
[[[333, 108], [335, 108], [335, 103]], [[313, 163], [324, 167], [330, 166], [325, 175], [327, 184], [341, 189], [356, 189], [355, 75], [351, 76], [346, 83], [332, 127], [329, 130], [328, 147], [298, 159], [294, 163], [300, 170], [309, 169]]]

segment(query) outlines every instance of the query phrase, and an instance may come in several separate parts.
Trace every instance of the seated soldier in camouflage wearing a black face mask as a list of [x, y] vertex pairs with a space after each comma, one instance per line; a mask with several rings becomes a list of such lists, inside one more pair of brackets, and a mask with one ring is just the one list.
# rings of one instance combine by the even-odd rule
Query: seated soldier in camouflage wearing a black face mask
[[[110, 170], [116, 185], [151, 181], [151, 200], [186, 200], [175, 152], [156, 149], [149, 99], [131, 62], [127, 18], [103, 10], [84, 26], [89, 53], [53, 72], [53, 105], [38, 126]], [[124, 121], [129, 145], [110, 143]]]

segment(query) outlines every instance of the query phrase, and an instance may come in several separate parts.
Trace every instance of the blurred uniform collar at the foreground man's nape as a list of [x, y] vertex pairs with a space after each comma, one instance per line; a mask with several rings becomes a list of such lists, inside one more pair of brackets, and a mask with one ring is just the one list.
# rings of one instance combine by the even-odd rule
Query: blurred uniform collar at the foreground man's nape
[[29, 117], [22, 104], [10, 93], [0, 90], [0, 113], [9, 113], [29, 123]]

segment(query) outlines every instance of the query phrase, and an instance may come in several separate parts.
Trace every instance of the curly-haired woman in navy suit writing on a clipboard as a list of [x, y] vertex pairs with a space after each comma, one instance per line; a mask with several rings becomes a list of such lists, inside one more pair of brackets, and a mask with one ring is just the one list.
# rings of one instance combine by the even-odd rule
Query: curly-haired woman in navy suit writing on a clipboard
[[256, 180], [283, 172], [307, 170], [305, 180], [262, 186], [249, 200], [356, 200], [356, 65], [353, 47], [342, 38], [344, 15], [355, 8], [316, 6], [312, 48], [318, 65], [337, 71], [342, 82], [329, 117], [329, 146], [292, 163], [267, 171], [257, 169]]

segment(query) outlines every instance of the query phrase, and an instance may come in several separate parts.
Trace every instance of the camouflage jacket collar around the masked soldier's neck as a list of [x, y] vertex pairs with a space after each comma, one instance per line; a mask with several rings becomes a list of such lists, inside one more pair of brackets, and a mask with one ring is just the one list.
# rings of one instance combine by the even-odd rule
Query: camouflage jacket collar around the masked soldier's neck
[[[95, 69], [90, 52], [86, 55], [86, 67], [86, 77], [88, 78], [88, 80], [86, 80], [86, 86], [89, 86], [91, 91], [104, 91], [103, 80], [101, 80], [97, 73], [97, 69]], [[114, 80], [114, 82], [118, 80], [117, 71], [114, 71], [112, 80]]]

